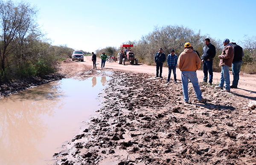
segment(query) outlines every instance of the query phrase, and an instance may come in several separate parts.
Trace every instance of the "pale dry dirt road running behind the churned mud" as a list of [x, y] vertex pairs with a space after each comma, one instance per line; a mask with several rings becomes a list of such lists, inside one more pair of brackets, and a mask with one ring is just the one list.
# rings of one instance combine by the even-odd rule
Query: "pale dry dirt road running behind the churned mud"
[[[75, 63], [77, 64], [76, 67], [66, 69], [66, 71], [68, 71], [70, 75], [80, 73], [82, 69], [93, 68], [93, 63], [91, 61], [90, 56], [85, 56], [84, 62], [82, 63], [81, 62], [75, 62]], [[101, 66], [101, 60], [98, 58], [97, 59], [98, 70], [131, 71], [131, 72], [137, 72], [137, 73], [147, 73], [147, 74], [152, 74], [152, 77], [154, 77], [156, 74], [155, 66], [149, 66], [149, 65], [140, 64], [140, 63], [139, 65], [130, 65], [130, 64], [119, 65], [117, 62], [111, 62], [111, 63], [106, 62], [105, 68], [102, 69], [100, 66]], [[74, 68], [76, 69], [74, 70]], [[74, 70], [74, 73], [71, 70], [72, 71]], [[181, 71], [179, 69], [176, 69], [176, 74], [177, 74], [178, 82], [181, 83]], [[202, 82], [204, 79], [203, 71], [198, 70], [197, 74], [198, 74], [199, 82]], [[166, 67], [163, 67], [163, 77], [165, 79], [167, 79], [168, 77], [168, 68]], [[173, 79], [173, 74], [171, 75], [171, 78]], [[213, 84], [218, 85], [220, 78], [221, 78], [220, 72], [213, 72]], [[233, 75], [232, 75], [232, 71], [230, 71], [230, 82], [232, 81], [233, 81]], [[232, 83], [230, 85], [232, 85]], [[248, 97], [248, 98], [251, 98], [252, 100], [256, 100], [256, 75], [240, 73], [240, 80], [239, 80], [238, 87], [239, 87], [238, 89], [231, 89], [231, 91], [234, 91], [240, 94], [241, 97]]]

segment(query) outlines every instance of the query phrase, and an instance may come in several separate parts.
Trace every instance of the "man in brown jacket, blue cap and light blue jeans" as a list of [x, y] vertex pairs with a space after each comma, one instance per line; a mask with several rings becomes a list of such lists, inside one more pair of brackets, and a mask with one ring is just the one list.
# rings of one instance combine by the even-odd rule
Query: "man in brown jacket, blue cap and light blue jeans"
[[[232, 61], [234, 58], [234, 46], [230, 43], [229, 39], [225, 39], [223, 41], [223, 45], [225, 46], [221, 55], [218, 57], [220, 58], [219, 66], [221, 66], [221, 82], [215, 88], [221, 88], [221, 91], [230, 91], [230, 76], [229, 76], [229, 69], [232, 66]], [[223, 90], [225, 85], [225, 89]]]

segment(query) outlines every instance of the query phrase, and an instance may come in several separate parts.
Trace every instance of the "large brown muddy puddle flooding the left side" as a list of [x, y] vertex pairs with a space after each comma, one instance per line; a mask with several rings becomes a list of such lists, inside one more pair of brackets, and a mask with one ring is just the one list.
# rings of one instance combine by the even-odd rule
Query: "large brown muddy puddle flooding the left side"
[[48, 165], [100, 108], [109, 77], [63, 79], [0, 98], [0, 165]]

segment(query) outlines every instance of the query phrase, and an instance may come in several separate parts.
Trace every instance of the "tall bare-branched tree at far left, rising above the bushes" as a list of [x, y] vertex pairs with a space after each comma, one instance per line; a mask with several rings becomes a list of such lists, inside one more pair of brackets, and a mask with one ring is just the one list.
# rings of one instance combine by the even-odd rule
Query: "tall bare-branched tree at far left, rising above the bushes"
[[36, 26], [36, 13], [35, 7], [31, 7], [29, 3], [0, 1], [0, 57], [3, 71], [6, 68], [6, 59], [19, 45], [22, 55], [24, 39], [32, 34]]

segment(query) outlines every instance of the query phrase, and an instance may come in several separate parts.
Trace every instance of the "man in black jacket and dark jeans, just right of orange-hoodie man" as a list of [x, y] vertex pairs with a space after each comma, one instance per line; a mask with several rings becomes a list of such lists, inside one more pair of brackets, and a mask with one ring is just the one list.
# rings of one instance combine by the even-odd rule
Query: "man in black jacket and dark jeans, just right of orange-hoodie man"
[[208, 85], [212, 85], [212, 77], [213, 77], [213, 72], [212, 72], [212, 59], [216, 55], [216, 49], [215, 46], [210, 43], [210, 39], [206, 38], [204, 40], [205, 46], [203, 48], [203, 53], [202, 53], [202, 63], [203, 65], [203, 70], [204, 70], [204, 83], [207, 83], [207, 77], [208, 77], [208, 71], [209, 71], [209, 83]]

